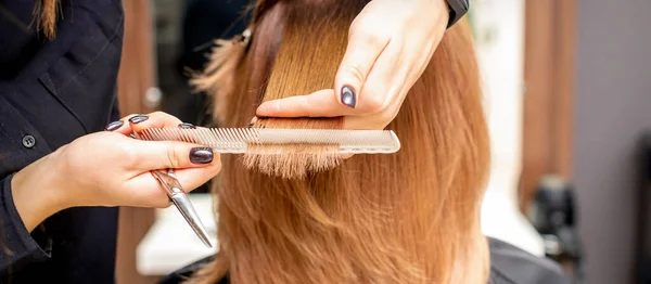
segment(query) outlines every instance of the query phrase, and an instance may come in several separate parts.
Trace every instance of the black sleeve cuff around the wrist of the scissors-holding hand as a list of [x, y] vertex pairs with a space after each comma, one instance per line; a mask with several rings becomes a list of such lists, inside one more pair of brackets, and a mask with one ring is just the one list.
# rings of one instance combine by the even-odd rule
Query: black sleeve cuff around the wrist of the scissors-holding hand
[[13, 175], [0, 180], [0, 283], [23, 268], [50, 258], [52, 241], [36, 228], [30, 234], [11, 193]]

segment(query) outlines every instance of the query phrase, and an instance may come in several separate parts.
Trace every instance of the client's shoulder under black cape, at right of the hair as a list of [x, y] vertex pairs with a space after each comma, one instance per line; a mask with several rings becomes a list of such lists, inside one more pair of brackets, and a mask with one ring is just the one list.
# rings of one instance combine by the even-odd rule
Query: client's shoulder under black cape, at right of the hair
[[548, 258], [534, 256], [502, 241], [488, 237], [490, 284], [570, 284], [563, 269]]

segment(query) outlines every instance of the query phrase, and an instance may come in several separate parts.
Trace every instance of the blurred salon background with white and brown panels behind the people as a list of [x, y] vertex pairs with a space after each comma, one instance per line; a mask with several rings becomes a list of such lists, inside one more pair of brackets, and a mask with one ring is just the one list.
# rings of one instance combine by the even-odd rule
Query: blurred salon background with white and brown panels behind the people
[[[245, 29], [247, 3], [125, 1], [122, 112], [215, 126], [188, 79], [213, 40]], [[651, 283], [650, 11], [646, 0], [471, 0], [494, 152], [483, 229], [575, 283]], [[207, 189], [191, 196], [214, 235]], [[214, 253], [174, 207], [122, 208], [118, 283], [154, 283]]]

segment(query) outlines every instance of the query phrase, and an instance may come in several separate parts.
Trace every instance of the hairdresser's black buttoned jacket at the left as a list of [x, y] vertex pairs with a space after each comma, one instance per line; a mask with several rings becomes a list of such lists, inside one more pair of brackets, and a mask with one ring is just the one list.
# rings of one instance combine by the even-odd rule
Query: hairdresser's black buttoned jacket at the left
[[60, 2], [48, 41], [36, 0], [0, 1], [0, 283], [115, 282], [117, 208], [64, 210], [29, 234], [11, 193], [14, 172], [119, 118], [122, 1]]

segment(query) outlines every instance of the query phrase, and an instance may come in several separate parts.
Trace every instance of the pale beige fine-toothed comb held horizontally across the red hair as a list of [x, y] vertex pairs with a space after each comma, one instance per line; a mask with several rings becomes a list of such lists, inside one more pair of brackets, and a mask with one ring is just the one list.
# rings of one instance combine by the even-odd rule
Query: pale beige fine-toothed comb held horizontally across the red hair
[[213, 147], [218, 153], [246, 153], [248, 145], [339, 145], [342, 154], [390, 154], [400, 149], [391, 130], [281, 128], [149, 128], [138, 133], [148, 141], [183, 141]]

